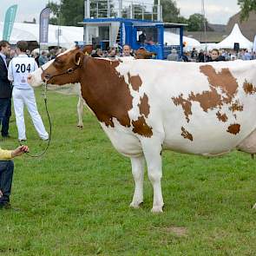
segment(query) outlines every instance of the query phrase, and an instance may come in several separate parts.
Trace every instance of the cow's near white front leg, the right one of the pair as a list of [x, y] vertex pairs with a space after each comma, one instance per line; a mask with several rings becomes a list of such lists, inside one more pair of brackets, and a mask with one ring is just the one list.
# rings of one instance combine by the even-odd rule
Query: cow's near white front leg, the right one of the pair
[[153, 213], [162, 213], [164, 205], [161, 194], [161, 141], [156, 139], [148, 139], [143, 143], [143, 153], [148, 166], [148, 178], [151, 181], [154, 190]]

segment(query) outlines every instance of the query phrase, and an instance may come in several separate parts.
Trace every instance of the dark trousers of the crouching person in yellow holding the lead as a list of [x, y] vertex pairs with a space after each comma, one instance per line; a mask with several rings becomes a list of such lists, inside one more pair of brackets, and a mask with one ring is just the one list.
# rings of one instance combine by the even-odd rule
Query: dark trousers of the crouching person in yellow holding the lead
[[0, 205], [10, 201], [13, 169], [13, 161], [0, 161], [0, 190], [3, 193], [3, 196], [0, 197]]

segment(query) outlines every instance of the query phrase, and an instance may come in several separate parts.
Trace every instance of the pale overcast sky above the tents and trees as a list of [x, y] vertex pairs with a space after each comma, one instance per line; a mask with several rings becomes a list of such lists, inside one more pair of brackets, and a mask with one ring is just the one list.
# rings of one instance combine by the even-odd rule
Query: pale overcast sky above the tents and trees
[[[45, 7], [49, 0], [0, 0], [0, 22], [4, 21], [5, 11], [12, 4], [18, 4], [16, 14], [16, 22], [31, 21], [33, 17], [38, 23], [40, 11]], [[75, 0], [74, 0], [75, 1]], [[140, 2], [149, 2], [144, 0]], [[52, 0], [59, 3], [60, 0]], [[240, 7], [237, 5], [237, 0], [205, 0], [205, 10], [207, 20], [210, 23], [226, 24], [229, 17], [237, 13]], [[178, 8], [181, 10], [181, 15], [188, 17], [194, 13], [201, 13], [201, 0], [176, 0]]]

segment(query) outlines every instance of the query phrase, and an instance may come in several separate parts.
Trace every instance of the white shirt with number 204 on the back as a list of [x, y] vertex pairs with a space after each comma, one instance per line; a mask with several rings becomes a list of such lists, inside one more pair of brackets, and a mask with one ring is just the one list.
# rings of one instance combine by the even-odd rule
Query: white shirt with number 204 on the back
[[10, 61], [8, 79], [16, 89], [32, 89], [27, 82], [27, 77], [36, 69], [38, 66], [34, 58], [20, 54]]

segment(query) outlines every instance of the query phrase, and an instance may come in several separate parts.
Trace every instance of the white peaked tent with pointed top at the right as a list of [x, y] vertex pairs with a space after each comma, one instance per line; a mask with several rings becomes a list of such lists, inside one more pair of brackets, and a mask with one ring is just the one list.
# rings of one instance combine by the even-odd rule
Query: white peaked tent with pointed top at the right
[[234, 43], [240, 43], [240, 49], [249, 49], [253, 48], [253, 43], [249, 41], [246, 36], [243, 36], [240, 27], [237, 23], [233, 26], [233, 30], [229, 36], [216, 44], [216, 48], [218, 49], [233, 49]]

